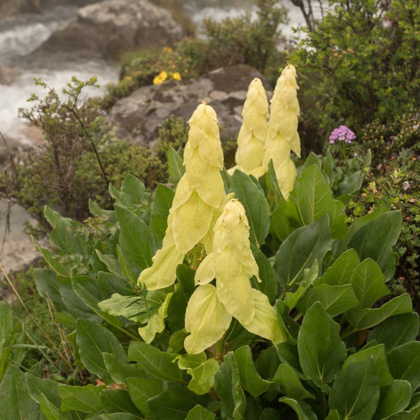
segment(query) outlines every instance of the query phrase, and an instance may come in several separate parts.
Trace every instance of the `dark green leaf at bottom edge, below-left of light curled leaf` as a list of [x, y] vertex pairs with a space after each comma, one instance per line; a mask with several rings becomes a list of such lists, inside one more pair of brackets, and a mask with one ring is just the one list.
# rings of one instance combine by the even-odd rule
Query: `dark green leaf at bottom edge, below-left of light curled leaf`
[[196, 405], [207, 407], [210, 398], [197, 395], [187, 388], [173, 386], [148, 400], [152, 418], [159, 420], [185, 420]]

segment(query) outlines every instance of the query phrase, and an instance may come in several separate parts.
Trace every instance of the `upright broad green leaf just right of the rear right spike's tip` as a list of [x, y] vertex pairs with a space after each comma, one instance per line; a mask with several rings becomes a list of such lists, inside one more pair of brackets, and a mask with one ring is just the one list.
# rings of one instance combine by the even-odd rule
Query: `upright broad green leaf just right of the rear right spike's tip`
[[309, 225], [328, 214], [335, 214], [334, 199], [324, 175], [317, 165], [307, 167], [298, 177], [290, 193], [295, 203], [300, 223]]

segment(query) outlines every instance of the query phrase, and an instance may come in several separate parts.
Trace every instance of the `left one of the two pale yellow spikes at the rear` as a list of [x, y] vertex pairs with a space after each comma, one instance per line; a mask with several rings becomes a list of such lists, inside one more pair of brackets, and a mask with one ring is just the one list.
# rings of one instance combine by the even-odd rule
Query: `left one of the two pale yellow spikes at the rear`
[[267, 133], [268, 100], [261, 80], [251, 81], [242, 110], [243, 123], [238, 135], [236, 166], [229, 169], [233, 174], [239, 169], [247, 175], [259, 178], [264, 174], [262, 166], [264, 142]]

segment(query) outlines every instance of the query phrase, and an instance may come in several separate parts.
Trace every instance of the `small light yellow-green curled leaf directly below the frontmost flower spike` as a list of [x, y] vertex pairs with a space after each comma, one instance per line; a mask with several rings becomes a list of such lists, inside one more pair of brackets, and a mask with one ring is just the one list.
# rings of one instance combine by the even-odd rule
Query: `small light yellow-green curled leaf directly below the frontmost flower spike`
[[192, 376], [188, 389], [198, 395], [206, 394], [215, 384], [215, 373], [219, 363], [215, 359], [208, 359], [204, 352], [177, 356], [178, 366]]

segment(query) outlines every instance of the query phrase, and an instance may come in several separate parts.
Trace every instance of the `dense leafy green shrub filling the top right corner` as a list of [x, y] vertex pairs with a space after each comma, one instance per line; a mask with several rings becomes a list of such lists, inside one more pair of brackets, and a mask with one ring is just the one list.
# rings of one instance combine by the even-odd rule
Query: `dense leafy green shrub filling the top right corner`
[[311, 80], [307, 92], [317, 98], [311, 108], [320, 127], [330, 131], [345, 121], [359, 131], [418, 108], [417, 2], [343, 0], [331, 8], [291, 53]]

